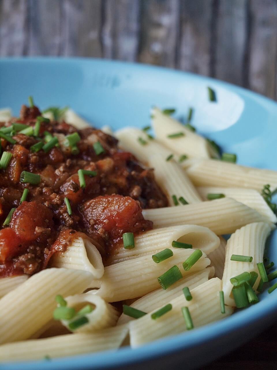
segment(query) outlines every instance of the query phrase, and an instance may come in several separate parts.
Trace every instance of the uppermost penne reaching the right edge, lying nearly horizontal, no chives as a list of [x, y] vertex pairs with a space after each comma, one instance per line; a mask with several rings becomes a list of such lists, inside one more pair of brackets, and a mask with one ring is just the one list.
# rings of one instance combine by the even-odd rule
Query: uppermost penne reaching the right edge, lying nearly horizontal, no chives
[[195, 186], [250, 188], [259, 192], [266, 184], [270, 184], [272, 191], [277, 187], [277, 171], [212, 159], [195, 161], [187, 168], [187, 174]]

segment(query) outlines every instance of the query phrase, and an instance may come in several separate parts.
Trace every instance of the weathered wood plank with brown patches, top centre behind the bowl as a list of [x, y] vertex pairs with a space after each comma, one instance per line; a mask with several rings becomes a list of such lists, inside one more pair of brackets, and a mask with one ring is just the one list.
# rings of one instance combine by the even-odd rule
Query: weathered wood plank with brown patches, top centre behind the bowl
[[179, 29], [178, 0], [141, 0], [141, 39], [138, 60], [175, 67]]

